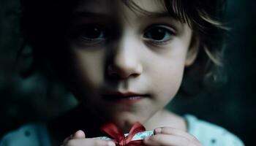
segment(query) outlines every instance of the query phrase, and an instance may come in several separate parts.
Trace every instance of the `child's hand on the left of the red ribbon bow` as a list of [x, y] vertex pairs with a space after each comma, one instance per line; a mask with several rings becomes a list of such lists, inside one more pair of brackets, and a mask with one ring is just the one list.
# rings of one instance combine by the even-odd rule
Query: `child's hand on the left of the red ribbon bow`
[[75, 134], [70, 135], [61, 146], [115, 146], [115, 143], [110, 140], [101, 140], [95, 138], [86, 138], [86, 134], [79, 130]]

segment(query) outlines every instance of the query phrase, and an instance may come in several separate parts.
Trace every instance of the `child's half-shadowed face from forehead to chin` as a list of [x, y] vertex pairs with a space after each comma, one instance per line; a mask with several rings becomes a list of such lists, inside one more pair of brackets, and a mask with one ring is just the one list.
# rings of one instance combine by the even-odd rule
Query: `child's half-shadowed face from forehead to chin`
[[176, 95], [184, 66], [192, 63], [187, 23], [167, 16], [159, 0], [135, 3], [160, 15], [132, 11], [120, 0], [84, 0], [68, 31], [75, 96], [119, 126], [151, 120]]

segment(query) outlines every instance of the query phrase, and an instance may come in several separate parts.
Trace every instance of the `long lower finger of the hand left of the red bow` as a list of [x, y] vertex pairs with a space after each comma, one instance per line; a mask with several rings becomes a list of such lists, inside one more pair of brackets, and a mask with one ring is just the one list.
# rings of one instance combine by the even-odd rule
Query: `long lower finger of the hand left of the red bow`
[[67, 146], [84, 146], [84, 145], [91, 145], [91, 146], [116, 146], [113, 141], [110, 140], [101, 140], [101, 139], [70, 139]]

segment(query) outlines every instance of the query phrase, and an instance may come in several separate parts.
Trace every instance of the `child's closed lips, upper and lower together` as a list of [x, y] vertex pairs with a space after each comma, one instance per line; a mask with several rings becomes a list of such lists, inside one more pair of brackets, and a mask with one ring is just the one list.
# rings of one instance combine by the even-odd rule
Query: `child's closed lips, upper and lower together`
[[103, 99], [107, 101], [118, 102], [121, 104], [134, 104], [141, 99], [148, 97], [147, 94], [140, 93], [121, 93], [121, 92], [109, 92], [102, 95]]

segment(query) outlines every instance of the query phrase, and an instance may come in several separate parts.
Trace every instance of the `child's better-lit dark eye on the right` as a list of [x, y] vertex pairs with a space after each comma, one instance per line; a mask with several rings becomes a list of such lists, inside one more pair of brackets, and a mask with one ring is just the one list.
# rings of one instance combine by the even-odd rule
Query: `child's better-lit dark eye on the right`
[[173, 38], [174, 32], [168, 26], [151, 26], [147, 29], [146, 33], [143, 35], [145, 39], [149, 41], [162, 43], [167, 42]]

